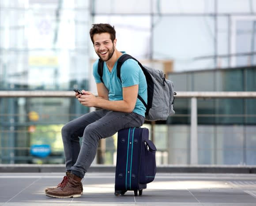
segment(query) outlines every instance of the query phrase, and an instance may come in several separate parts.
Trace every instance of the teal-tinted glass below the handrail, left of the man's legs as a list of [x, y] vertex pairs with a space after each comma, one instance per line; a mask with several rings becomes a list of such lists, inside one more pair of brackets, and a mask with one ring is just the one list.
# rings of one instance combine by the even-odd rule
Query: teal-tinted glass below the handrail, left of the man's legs
[[[88, 112], [75, 98], [1, 98], [0, 105], [2, 163], [63, 163], [62, 125]], [[34, 144], [49, 145], [49, 157], [31, 156]]]

